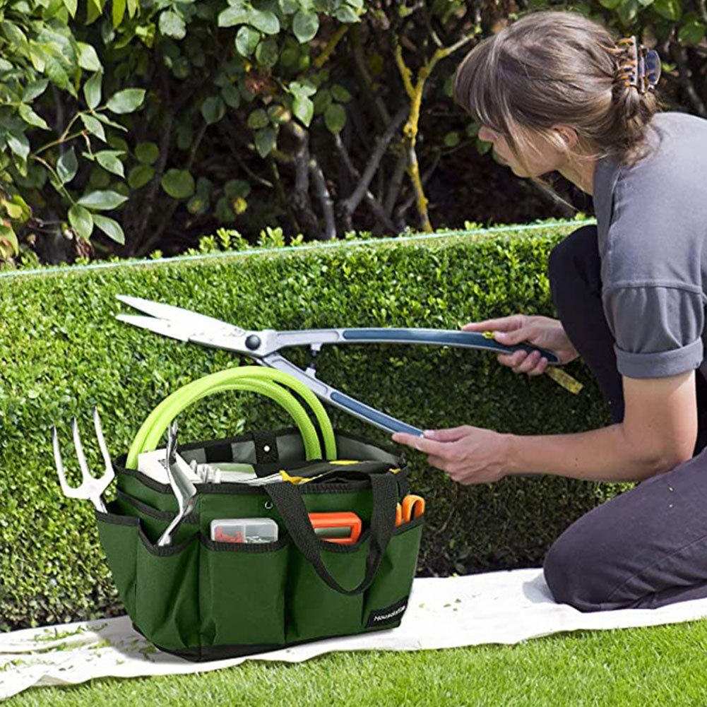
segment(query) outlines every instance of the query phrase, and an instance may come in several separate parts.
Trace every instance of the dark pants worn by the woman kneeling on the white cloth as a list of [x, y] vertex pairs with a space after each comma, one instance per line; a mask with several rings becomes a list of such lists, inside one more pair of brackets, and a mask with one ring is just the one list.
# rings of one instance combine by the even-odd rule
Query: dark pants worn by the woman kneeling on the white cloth
[[[596, 226], [553, 248], [549, 280], [559, 319], [620, 422], [624, 395], [602, 310]], [[593, 508], [556, 539], [543, 570], [557, 602], [592, 612], [707, 597], [707, 382], [699, 371], [695, 378], [694, 456]]]

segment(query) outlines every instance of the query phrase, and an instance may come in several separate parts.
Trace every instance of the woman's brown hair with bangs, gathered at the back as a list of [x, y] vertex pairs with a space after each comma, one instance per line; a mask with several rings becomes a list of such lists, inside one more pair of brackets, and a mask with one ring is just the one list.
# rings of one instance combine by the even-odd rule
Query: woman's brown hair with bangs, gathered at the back
[[[662, 107], [653, 91], [638, 93], [619, 76], [625, 49], [600, 23], [578, 12], [536, 11], [479, 42], [455, 73], [454, 100], [479, 122], [506, 137], [525, 166], [530, 132], [557, 148], [550, 128], [575, 129], [593, 158], [622, 164], [645, 156], [650, 119]], [[548, 187], [548, 182], [536, 179]]]

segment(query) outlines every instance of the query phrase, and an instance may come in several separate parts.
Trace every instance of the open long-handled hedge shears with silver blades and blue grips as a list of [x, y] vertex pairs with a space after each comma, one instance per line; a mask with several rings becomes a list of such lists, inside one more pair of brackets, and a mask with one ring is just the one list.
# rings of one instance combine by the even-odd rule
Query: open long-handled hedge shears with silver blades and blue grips
[[[296, 329], [276, 331], [262, 329], [249, 331], [214, 317], [192, 312], [173, 305], [153, 302], [141, 297], [117, 295], [124, 304], [144, 312], [141, 315], [116, 315], [121, 322], [150, 329], [165, 337], [179, 341], [191, 341], [213, 349], [226, 349], [255, 358], [262, 366], [269, 366], [293, 375], [303, 382], [317, 397], [387, 432], [407, 432], [421, 436], [422, 430], [370, 407], [342, 393], [316, 377], [314, 361], [307, 370], [298, 368], [279, 351], [288, 346], [309, 346], [314, 358], [325, 344], [438, 344], [460, 346], [467, 349], [485, 349], [501, 354], [512, 354], [523, 349], [534, 351], [533, 346], [516, 344], [505, 346], [480, 332], [457, 332], [452, 329]], [[537, 349], [551, 365], [559, 364], [559, 358], [551, 351]]]

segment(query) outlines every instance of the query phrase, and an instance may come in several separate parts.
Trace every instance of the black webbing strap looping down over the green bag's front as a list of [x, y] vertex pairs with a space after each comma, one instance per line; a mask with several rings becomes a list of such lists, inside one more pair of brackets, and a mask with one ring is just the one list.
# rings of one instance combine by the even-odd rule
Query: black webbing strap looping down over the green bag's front
[[296, 484], [265, 484], [262, 488], [279, 510], [285, 526], [299, 551], [312, 564], [322, 580], [337, 592], [356, 595], [366, 591], [375, 579], [385, 548], [390, 542], [395, 527], [395, 507], [397, 505], [397, 479], [395, 474], [369, 474], [373, 490], [373, 513], [370, 518], [370, 539], [366, 556], [366, 574], [358, 587], [345, 589], [327, 570], [302, 494]]

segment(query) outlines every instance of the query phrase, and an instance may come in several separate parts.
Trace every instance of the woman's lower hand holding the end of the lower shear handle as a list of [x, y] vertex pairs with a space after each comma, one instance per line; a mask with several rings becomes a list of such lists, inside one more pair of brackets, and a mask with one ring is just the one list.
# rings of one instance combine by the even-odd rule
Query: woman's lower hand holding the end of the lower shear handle
[[491, 484], [506, 476], [508, 435], [463, 425], [426, 430], [424, 437], [396, 432], [392, 440], [426, 452], [433, 467], [460, 484]]

